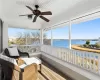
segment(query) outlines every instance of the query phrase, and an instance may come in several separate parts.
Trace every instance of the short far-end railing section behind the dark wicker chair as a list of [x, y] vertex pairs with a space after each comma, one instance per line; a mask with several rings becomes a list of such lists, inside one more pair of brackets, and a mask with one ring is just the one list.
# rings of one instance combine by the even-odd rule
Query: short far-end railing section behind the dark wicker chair
[[17, 45], [16, 46], [22, 52], [34, 53], [40, 51], [40, 46], [33, 46], [33, 45]]

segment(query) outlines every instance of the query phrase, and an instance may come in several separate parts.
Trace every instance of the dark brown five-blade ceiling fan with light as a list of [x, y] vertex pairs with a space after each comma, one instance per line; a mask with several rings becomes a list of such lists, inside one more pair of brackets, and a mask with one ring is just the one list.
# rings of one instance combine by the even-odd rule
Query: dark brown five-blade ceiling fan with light
[[33, 10], [30, 6], [26, 6], [26, 7], [32, 11], [32, 14], [19, 15], [19, 16], [27, 16], [28, 19], [32, 19], [33, 15], [35, 15], [33, 22], [36, 22], [37, 17], [40, 17], [46, 22], [50, 21], [49, 19], [45, 18], [43, 15], [52, 15], [51, 11], [41, 12], [40, 10], [38, 10], [39, 5], [35, 5], [35, 8], [36, 8], [35, 10]]

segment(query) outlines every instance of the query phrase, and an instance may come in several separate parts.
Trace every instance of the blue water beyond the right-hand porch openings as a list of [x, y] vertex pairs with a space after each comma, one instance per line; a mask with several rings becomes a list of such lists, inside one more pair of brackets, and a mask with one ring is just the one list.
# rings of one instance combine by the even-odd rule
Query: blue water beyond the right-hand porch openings
[[[90, 44], [95, 44], [97, 41], [90, 41]], [[85, 44], [86, 41], [84, 40], [72, 40], [71, 41], [71, 44], [74, 45], [74, 44], [79, 44], [79, 45], [82, 45], [82, 44]], [[54, 47], [64, 47], [64, 48], [68, 48], [69, 46], [69, 40], [53, 40], [53, 46]]]

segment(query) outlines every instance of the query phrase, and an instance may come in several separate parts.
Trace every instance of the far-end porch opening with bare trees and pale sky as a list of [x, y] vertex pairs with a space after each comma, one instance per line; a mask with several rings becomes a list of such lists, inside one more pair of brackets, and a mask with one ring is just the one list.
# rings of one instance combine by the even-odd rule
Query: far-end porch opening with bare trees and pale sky
[[39, 45], [39, 30], [8, 28], [9, 46], [12, 45]]

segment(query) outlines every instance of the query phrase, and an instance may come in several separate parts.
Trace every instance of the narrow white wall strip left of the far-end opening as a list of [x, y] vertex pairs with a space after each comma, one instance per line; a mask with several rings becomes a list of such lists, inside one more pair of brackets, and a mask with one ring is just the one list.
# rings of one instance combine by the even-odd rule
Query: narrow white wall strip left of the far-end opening
[[8, 47], [8, 24], [3, 23], [3, 50]]

